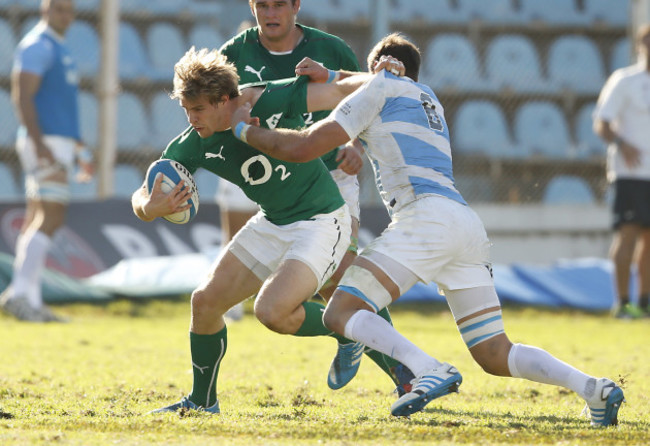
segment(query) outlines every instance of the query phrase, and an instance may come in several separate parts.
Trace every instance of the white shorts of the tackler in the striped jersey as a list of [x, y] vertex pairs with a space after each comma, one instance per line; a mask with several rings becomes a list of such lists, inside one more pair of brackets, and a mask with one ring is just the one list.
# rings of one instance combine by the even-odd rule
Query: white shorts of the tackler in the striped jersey
[[[372, 252], [395, 260], [424, 283], [435, 282], [443, 292], [493, 286], [490, 241], [481, 219], [469, 206], [445, 197], [421, 197], [400, 207], [360, 255], [372, 258]], [[381, 266], [398, 282], [408, 276]], [[402, 291], [413, 285], [397, 284]]]

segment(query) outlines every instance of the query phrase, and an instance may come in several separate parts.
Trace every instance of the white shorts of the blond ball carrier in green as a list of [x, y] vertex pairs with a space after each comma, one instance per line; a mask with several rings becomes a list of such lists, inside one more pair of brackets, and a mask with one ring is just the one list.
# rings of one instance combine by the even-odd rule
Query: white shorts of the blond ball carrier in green
[[275, 225], [258, 212], [228, 249], [262, 281], [285, 259], [299, 260], [317, 277], [318, 290], [341, 263], [350, 245], [350, 226], [347, 205], [288, 225]]

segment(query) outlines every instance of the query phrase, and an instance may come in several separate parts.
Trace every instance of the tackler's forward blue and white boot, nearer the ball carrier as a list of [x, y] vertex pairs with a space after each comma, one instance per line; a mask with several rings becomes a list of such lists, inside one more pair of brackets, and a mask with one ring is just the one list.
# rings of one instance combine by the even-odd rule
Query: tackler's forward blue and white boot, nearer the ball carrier
[[407, 417], [424, 408], [431, 401], [451, 392], [458, 392], [463, 377], [456, 367], [448, 363], [418, 376], [410, 392], [395, 401], [390, 408], [391, 415]]

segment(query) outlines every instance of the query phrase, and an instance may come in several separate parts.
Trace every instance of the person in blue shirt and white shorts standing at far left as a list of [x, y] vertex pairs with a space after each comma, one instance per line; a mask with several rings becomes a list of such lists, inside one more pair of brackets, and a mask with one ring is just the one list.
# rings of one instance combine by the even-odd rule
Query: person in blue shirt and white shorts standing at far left
[[41, 21], [18, 44], [11, 76], [27, 206], [12, 281], [0, 306], [31, 322], [62, 321], [43, 303], [41, 276], [52, 237], [65, 220], [75, 157], [81, 172], [92, 174], [79, 135], [77, 72], [64, 44], [73, 20], [72, 0], [42, 0]]

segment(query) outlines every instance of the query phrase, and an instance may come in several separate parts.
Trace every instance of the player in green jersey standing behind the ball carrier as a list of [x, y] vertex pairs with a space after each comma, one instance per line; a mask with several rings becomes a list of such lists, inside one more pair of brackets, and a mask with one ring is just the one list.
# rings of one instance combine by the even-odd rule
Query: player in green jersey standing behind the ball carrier
[[[356, 55], [341, 38], [296, 23], [300, 0], [249, 0], [249, 6], [257, 26], [242, 31], [219, 50], [235, 64], [242, 84], [293, 77], [295, 67], [305, 57], [331, 70], [361, 71]], [[328, 114], [328, 111], [306, 113], [305, 123], [311, 125]], [[355, 140], [341, 150], [343, 152], [333, 150], [322, 159], [350, 208], [352, 243], [337, 271], [319, 290], [319, 294], [326, 300], [329, 300], [343, 272], [357, 254], [360, 209], [359, 182], [356, 174], [363, 165], [363, 149]], [[350, 167], [339, 165], [337, 156], [345, 157]], [[225, 181], [219, 182], [217, 202], [225, 243], [255, 214], [257, 205]], [[381, 316], [391, 322], [387, 308], [381, 310]], [[338, 345], [337, 354], [328, 373], [328, 384], [332, 389], [345, 386], [353, 378], [354, 375], [343, 376], [340, 370], [348, 369], [350, 363], [360, 360], [361, 352], [360, 344]], [[413, 378], [410, 370], [374, 350], [366, 349], [366, 354], [386, 372], [397, 386], [398, 392], [402, 393], [403, 385], [408, 386]]]

